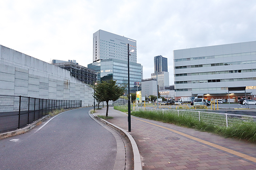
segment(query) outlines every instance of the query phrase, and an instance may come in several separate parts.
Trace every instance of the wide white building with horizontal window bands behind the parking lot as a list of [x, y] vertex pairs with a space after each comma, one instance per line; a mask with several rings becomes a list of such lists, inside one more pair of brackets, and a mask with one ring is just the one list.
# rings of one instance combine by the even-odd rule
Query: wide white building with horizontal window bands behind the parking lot
[[[175, 99], [228, 99], [230, 87], [246, 87], [247, 98], [256, 98], [256, 41], [174, 50], [173, 57]], [[236, 102], [245, 97], [231, 93]]]

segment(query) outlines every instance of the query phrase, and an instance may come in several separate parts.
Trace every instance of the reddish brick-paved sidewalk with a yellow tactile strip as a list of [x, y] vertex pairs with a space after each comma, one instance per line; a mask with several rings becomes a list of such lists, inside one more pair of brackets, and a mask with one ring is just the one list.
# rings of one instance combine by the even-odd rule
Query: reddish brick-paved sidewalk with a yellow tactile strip
[[[105, 116], [106, 108], [95, 115]], [[108, 122], [128, 131], [127, 114], [109, 108]], [[131, 117], [143, 170], [256, 170], [256, 144]]]

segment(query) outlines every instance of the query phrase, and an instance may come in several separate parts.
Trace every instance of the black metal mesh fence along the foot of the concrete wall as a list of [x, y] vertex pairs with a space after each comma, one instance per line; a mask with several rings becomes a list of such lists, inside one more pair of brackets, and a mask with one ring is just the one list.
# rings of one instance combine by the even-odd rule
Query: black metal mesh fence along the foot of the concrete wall
[[81, 100], [0, 95], [0, 133], [25, 127], [56, 109], [81, 107]]

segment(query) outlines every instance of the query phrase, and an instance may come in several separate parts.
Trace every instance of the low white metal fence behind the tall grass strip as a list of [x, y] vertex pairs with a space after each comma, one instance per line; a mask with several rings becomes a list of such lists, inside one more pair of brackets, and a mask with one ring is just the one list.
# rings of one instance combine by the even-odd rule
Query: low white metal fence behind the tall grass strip
[[218, 126], [232, 126], [234, 124], [240, 124], [242, 122], [253, 122], [256, 124], [256, 116], [239, 115], [239, 114], [229, 114], [229, 113], [215, 113], [206, 111], [187, 111], [187, 110], [168, 110], [168, 109], [155, 109], [155, 108], [145, 108], [145, 107], [133, 107], [132, 111], [157, 111], [161, 114], [171, 113], [177, 114], [178, 116], [192, 116], [199, 121], [211, 125]]

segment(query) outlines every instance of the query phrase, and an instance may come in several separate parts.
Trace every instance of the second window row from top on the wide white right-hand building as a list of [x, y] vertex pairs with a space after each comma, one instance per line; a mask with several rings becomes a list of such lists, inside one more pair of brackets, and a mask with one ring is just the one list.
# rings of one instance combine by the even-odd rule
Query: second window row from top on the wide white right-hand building
[[176, 66], [175, 69], [212, 67], [212, 66], [221, 66], [221, 65], [240, 65], [240, 64], [252, 64], [252, 63], [256, 63], [256, 60], [238, 61], [238, 62], [223, 62], [223, 63], [212, 63], [212, 64], [200, 64], [200, 65], [185, 65], [185, 66]]

